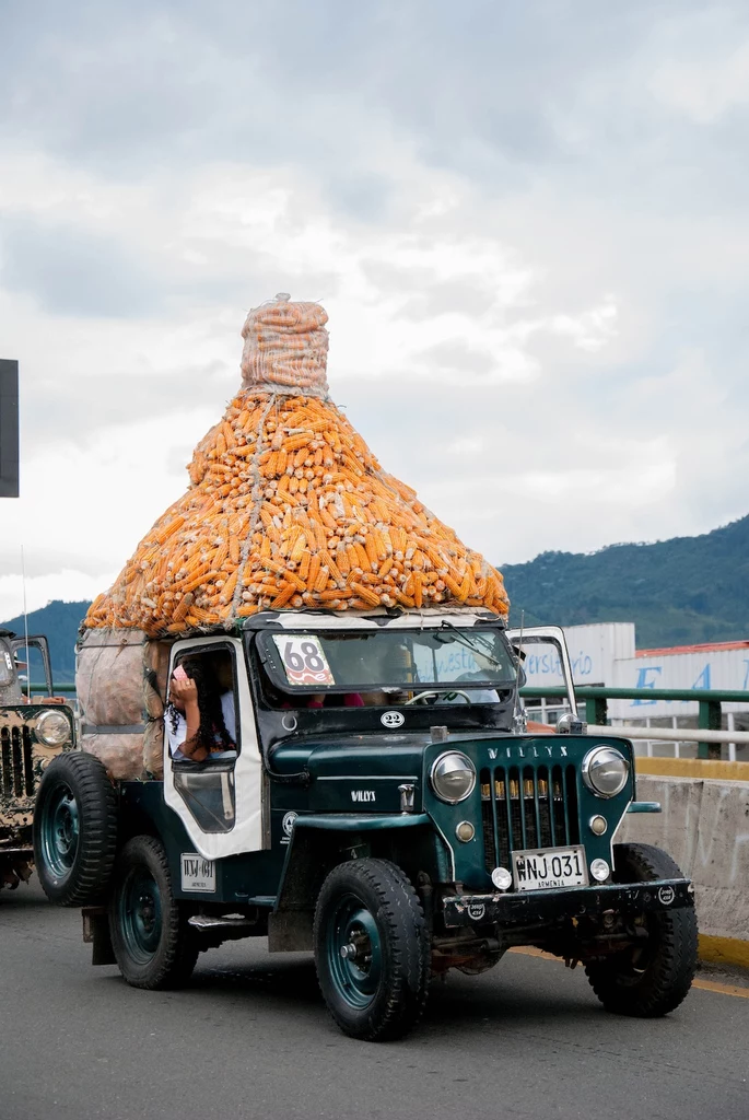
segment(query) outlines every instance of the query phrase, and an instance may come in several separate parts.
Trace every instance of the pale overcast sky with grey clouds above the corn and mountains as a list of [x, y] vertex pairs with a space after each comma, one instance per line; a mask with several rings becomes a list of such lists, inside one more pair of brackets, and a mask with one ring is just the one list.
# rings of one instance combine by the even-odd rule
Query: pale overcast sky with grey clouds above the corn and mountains
[[749, 513], [748, 124], [746, 0], [0, 0], [0, 619], [21, 545], [109, 586], [279, 291], [497, 564]]

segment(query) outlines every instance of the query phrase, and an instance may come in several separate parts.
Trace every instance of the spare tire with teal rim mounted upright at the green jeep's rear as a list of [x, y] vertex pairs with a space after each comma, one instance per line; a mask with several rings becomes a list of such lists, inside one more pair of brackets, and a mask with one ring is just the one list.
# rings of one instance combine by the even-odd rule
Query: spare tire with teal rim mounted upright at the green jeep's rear
[[101, 902], [116, 855], [118, 806], [99, 758], [78, 750], [53, 758], [37, 791], [32, 834], [37, 875], [50, 902]]

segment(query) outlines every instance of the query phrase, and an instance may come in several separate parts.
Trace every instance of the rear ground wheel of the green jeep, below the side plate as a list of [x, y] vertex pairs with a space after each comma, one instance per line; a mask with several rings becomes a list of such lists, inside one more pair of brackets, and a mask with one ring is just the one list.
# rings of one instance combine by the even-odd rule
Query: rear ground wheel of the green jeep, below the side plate
[[167, 853], [153, 837], [133, 837], [118, 859], [109, 907], [110, 937], [133, 988], [179, 988], [198, 958], [195, 933], [175, 899]]

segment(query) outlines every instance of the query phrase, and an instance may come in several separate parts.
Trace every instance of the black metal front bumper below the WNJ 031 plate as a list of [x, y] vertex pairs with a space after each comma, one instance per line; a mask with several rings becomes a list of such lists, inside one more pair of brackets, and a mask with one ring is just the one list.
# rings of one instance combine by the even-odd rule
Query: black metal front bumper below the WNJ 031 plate
[[691, 879], [518, 890], [512, 894], [449, 895], [442, 899], [446, 926], [542, 925], [560, 918], [600, 917], [605, 913], [634, 917], [694, 905]]

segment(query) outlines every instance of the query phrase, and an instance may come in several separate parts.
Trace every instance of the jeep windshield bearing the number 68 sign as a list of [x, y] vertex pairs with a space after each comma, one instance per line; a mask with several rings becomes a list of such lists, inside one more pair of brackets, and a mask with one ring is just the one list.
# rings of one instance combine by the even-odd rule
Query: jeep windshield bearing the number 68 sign
[[516, 676], [502, 632], [488, 626], [266, 631], [259, 650], [273, 688], [289, 699], [330, 692], [376, 704], [431, 692], [437, 703], [496, 703]]

